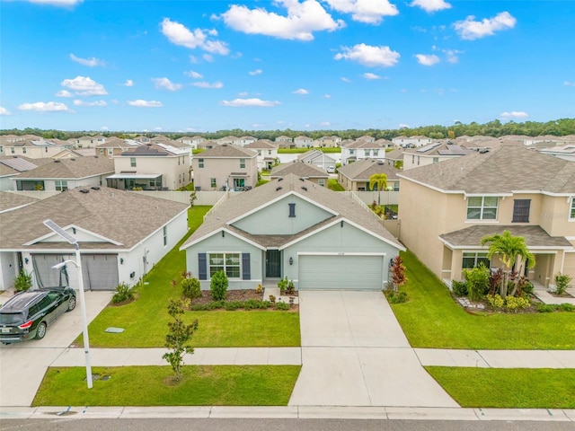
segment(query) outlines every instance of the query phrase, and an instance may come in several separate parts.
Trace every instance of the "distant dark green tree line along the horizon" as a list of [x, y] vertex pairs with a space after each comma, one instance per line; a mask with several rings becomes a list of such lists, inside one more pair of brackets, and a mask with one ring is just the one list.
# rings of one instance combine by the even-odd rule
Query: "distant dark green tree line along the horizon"
[[42, 136], [45, 139], [69, 139], [85, 135], [102, 135], [102, 136], [119, 136], [122, 138], [134, 137], [139, 135], [144, 136], [157, 136], [164, 135], [173, 139], [181, 136], [202, 136], [206, 139], [219, 139], [224, 136], [253, 136], [258, 139], [274, 140], [278, 136], [289, 136], [294, 138], [296, 136], [309, 136], [313, 139], [322, 136], [340, 136], [341, 139], [357, 139], [360, 136], [373, 136], [376, 139], [391, 140], [396, 136], [428, 136], [433, 139], [443, 139], [446, 137], [457, 136], [493, 136], [500, 137], [505, 135], [526, 135], [526, 136], [565, 136], [575, 135], [575, 119], [556, 119], [544, 123], [536, 121], [526, 121], [524, 123], [516, 123], [509, 121], [501, 123], [499, 119], [495, 119], [485, 124], [479, 124], [473, 121], [470, 124], [464, 124], [456, 121], [453, 126], [423, 126], [420, 128], [396, 128], [396, 129], [377, 129], [368, 128], [367, 130], [348, 129], [348, 130], [313, 130], [302, 131], [292, 130], [287, 128], [285, 130], [243, 130], [241, 128], [234, 128], [231, 130], [218, 130], [217, 132], [209, 133], [141, 133], [141, 132], [94, 132], [94, 131], [75, 131], [68, 132], [62, 130], [42, 130], [40, 128], [24, 128], [20, 129], [3, 129], [0, 130], [0, 135], [36, 135]]

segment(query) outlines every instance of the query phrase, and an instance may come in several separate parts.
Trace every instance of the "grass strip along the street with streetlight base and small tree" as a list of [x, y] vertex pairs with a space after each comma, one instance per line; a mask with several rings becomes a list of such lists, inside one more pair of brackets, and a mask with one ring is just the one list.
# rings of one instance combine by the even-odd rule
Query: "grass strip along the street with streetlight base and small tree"
[[32, 406], [286, 406], [301, 365], [185, 365], [49, 368]]

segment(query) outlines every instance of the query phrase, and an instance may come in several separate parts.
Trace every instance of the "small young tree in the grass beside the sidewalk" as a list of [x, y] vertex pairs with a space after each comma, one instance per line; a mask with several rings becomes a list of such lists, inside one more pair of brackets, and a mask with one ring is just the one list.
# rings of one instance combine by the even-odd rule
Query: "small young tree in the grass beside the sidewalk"
[[173, 317], [173, 321], [168, 323], [170, 331], [165, 336], [165, 347], [170, 349], [169, 352], [162, 356], [168, 364], [172, 365], [173, 373], [175, 374], [176, 381], [181, 378], [181, 366], [183, 365], [183, 356], [187, 353], [193, 355], [194, 348], [188, 342], [191, 336], [198, 329], [198, 319], [192, 321], [187, 325], [181, 320], [184, 313], [183, 303], [181, 300], [170, 299], [168, 304], [168, 314]]

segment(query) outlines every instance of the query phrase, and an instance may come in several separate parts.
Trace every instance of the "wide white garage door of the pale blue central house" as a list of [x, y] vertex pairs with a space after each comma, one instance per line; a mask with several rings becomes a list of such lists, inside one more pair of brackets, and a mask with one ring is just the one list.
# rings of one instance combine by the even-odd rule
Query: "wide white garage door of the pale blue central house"
[[383, 256], [299, 256], [299, 290], [381, 290]]

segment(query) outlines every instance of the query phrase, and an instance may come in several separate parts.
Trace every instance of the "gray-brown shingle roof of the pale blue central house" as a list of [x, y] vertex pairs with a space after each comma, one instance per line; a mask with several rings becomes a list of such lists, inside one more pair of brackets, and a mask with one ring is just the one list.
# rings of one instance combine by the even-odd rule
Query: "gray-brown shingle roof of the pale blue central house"
[[[302, 188], [305, 189], [302, 189]], [[243, 216], [252, 210], [264, 207], [271, 201], [288, 196], [289, 194], [297, 193], [304, 198], [316, 202], [318, 205], [330, 208], [335, 216], [328, 218], [328, 220], [315, 224], [304, 232], [297, 233], [296, 235], [251, 235], [234, 228], [228, 222]], [[267, 247], [270, 243], [275, 246], [281, 246], [291, 242], [305, 233], [313, 232], [315, 229], [323, 226], [324, 224], [346, 218], [351, 222], [361, 225], [367, 231], [385, 238], [387, 242], [396, 245], [403, 250], [403, 245], [398, 242], [394, 236], [389, 233], [381, 220], [365, 204], [358, 202], [351, 198], [349, 194], [344, 192], [332, 191], [325, 187], [318, 186], [314, 182], [298, 178], [294, 174], [288, 174], [279, 180], [272, 180], [255, 189], [251, 189], [242, 193], [235, 194], [228, 198], [219, 207], [213, 210], [208, 217], [204, 220], [196, 230], [192, 233], [190, 238], [181, 246], [186, 248], [190, 243], [196, 242], [210, 233], [214, 233], [220, 228], [228, 228], [243, 236], [246, 239], [259, 243], [262, 247]]]

